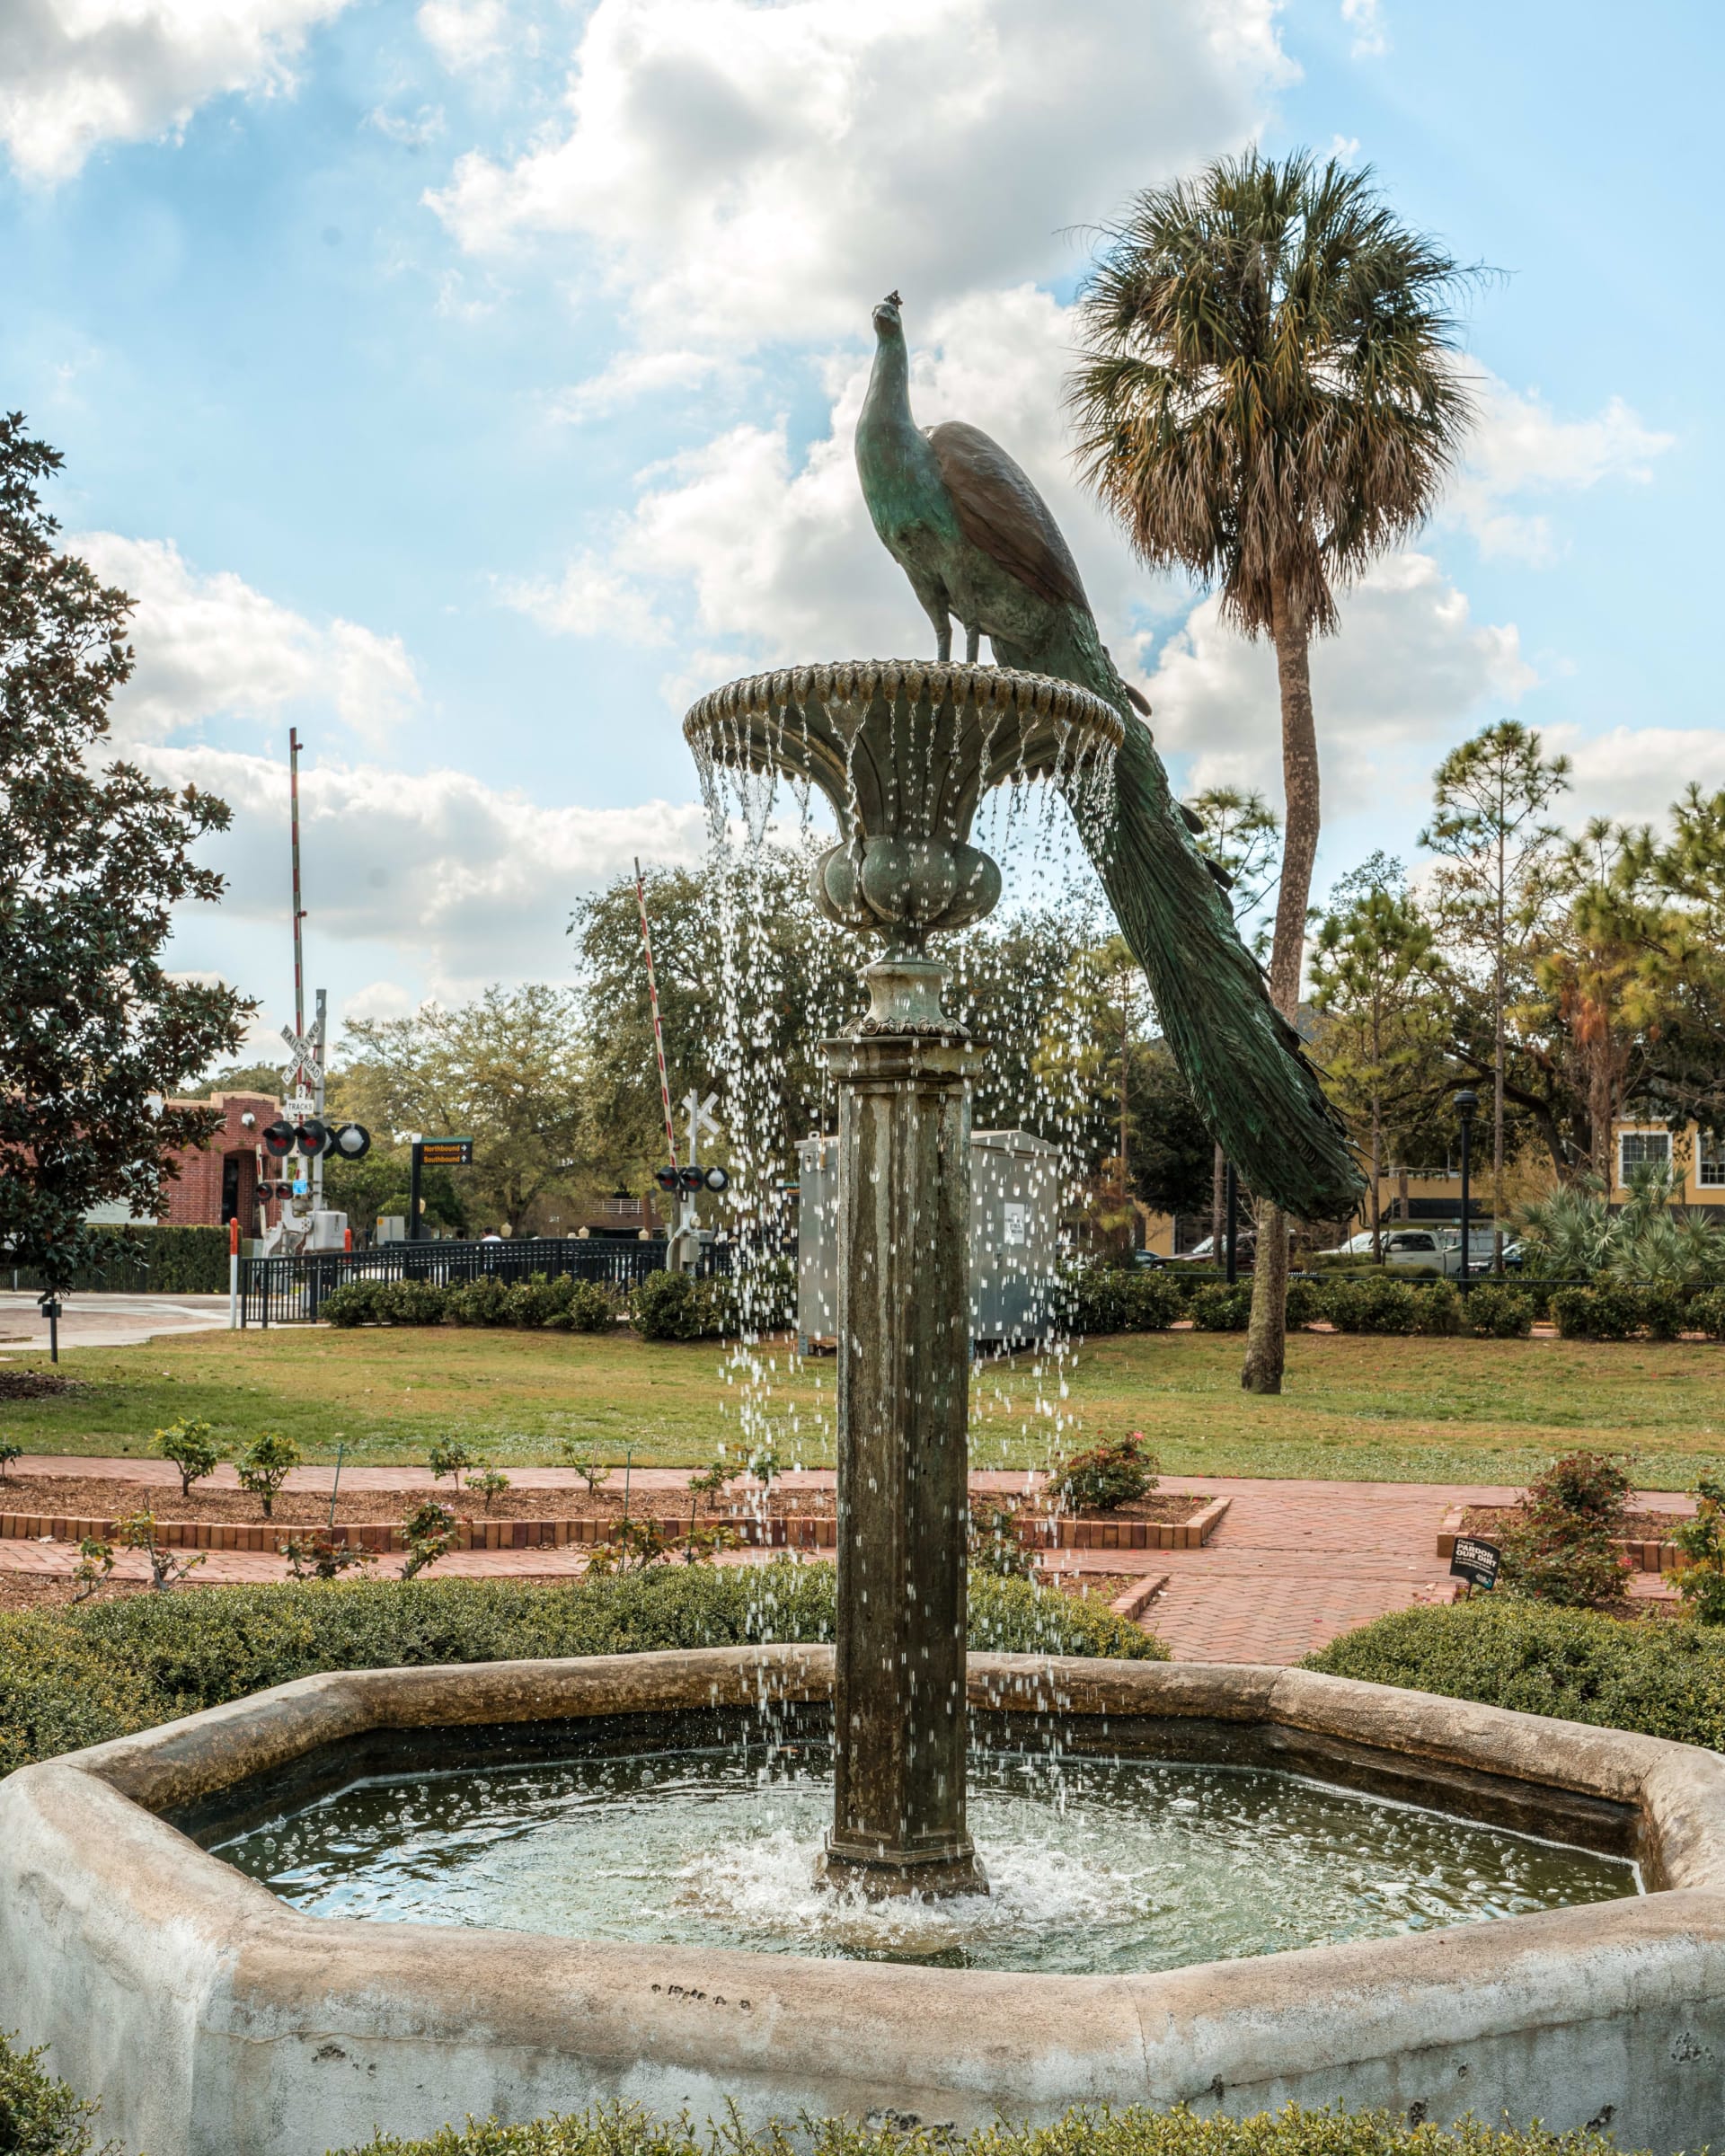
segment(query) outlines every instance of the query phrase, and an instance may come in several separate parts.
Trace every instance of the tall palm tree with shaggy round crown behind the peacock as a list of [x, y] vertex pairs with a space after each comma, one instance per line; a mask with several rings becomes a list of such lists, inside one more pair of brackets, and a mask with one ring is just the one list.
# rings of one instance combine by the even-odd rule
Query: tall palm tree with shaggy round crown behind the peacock
[[[1369, 170], [1246, 151], [1141, 194], [1080, 295], [1070, 384], [1087, 483], [1138, 556], [1268, 636], [1285, 837], [1270, 994], [1300, 1000], [1317, 854], [1311, 638], [1335, 591], [1432, 511], [1466, 436], [1453, 293], [1473, 272], [1402, 224]], [[1242, 1384], [1279, 1393], [1287, 1225], [1259, 1225]]]

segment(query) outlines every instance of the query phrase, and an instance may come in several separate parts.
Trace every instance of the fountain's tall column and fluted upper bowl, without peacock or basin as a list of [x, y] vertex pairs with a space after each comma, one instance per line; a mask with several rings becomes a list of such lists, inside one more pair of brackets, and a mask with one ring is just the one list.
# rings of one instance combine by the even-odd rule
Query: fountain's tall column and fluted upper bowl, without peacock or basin
[[[1065, 681], [936, 664], [798, 666], [714, 690], [684, 733], [716, 824], [742, 789], [817, 785], [839, 843], [813, 871], [841, 927], [882, 936], [869, 1009], [826, 1044], [839, 1091], [839, 1619], [834, 1802], [822, 1861], [867, 1895], [975, 1893], [964, 1826], [970, 1391], [970, 1074], [940, 1007], [942, 929], [1000, 871], [970, 845], [1003, 780], [1100, 791], [1113, 705]], [[753, 819], [759, 826], [759, 817]]]

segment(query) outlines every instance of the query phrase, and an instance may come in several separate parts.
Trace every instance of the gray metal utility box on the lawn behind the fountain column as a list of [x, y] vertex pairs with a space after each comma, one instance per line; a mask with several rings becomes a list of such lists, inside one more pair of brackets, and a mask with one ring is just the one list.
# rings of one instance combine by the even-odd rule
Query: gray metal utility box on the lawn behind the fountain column
[[[839, 1141], [800, 1138], [796, 1330], [809, 1354], [839, 1332]], [[1048, 1332], [1061, 1246], [1061, 1149], [1029, 1130], [970, 1132], [970, 1339]]]

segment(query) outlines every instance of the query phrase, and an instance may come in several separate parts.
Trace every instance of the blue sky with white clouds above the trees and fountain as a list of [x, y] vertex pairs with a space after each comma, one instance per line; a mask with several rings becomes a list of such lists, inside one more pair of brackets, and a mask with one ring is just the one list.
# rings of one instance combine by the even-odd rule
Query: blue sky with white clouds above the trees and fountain
[[1501, 716], [1570, 819], [1725, 785], [1721, 47], [1701, 0], [0, 0], [0, 403], [138, 602], [119, 744], [233, 806], [170, 964], [291, 1018], [289, 727], [339, 1024], [567, 981], [582, 893], [703, 849], [703, 690], [925, 655], [850, 448], [891, 287], [1175, 785], [1276, 802], [1268, 647], [1132, 561], [1061, 416], [1095, 231], [1248, 142], [1490, 270], [1468, 464], [1315, 649], [1317, 888], [1412, 862]]

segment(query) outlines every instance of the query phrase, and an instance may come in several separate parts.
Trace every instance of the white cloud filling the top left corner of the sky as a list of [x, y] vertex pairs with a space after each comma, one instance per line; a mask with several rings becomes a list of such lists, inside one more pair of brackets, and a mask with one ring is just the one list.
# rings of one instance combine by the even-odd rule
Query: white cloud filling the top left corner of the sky
[[306, 30], [347, 0], [6, 0], [0, 140], [26, 179], [69, 179], [101, 142], [183, 127], [233, 91], [293, 84]]

